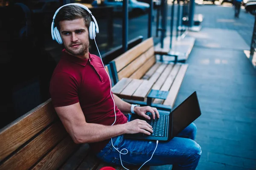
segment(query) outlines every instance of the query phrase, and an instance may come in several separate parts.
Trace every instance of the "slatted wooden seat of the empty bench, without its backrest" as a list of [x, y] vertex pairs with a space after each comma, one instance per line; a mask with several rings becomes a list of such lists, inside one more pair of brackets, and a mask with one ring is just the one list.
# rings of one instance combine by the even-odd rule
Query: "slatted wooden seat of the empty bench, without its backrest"
[[151, 89], [169, 91], [166, 100], [154, 99], [153, 103], [173, 107], [187, 68], [188, 64], [165, 64], [157, 62], [141, 79], [122, 78], [113, 86], [112, 92], [122, 99], [146, 102], [146, 96]]

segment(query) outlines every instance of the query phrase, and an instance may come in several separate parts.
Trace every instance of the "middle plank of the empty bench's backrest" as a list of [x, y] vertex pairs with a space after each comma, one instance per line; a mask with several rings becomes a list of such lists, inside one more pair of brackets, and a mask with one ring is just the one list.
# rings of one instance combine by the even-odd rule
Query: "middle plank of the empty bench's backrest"
[[151, 56], [146, 56], [141, 54], [140, 57], [129, 63], [125, 68], [118, 72], [118, 78], [130, 77], [138, 68], [141, 68], [142, 65], [149, 59]]

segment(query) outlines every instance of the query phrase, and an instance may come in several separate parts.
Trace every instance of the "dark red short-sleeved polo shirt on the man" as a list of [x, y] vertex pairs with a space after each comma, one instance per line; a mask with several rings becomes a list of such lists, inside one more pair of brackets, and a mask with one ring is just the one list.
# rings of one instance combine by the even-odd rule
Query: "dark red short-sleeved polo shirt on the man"
[[[115, 121], [110, 81], [101, 59], [89, 54], [89, 59], [80, 59], [62, 51], [50, 81], [50, 94], [54, 107], [80, 102], [86, 122], [112, 125]], [[112, 92], [111, 92], [112, 93]], [[112, 94], [113, 95], [113, 94]], [[116, 124], [127, 122], [126, 116], [117, 108]], [[105, 147], [110, 139], [91, 143], [95, 152]]]

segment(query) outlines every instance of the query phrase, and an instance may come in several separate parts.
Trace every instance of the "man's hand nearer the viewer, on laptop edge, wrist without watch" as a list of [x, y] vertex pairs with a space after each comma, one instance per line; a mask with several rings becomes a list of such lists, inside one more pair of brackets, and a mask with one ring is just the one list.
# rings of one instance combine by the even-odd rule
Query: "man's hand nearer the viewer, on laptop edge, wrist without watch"
[[125, 125], [125, 133], [145, 133], [147, 135], [150, 135], [153, 133], [152, 127], [145, 121], [140, 119], [135, 119], [131, 122], [127, 122]]

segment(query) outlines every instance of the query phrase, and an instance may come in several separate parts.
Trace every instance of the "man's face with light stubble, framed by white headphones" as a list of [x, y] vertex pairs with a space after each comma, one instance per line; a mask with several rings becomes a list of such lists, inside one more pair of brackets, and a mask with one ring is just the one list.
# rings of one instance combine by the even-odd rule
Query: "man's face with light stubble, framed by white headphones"
[[84, 19], [64, 20], [59, 24], [63, 45], [67, 52], [74, 56], [84, 57], [89, 47], [89, 34]]

